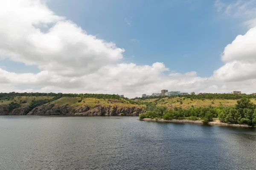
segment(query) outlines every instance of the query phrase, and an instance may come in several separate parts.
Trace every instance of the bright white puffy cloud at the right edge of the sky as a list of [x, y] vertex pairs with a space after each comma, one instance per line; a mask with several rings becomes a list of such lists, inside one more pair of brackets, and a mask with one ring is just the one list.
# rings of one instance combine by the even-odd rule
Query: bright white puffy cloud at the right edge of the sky
[[256, 78], [256, 27], [238, 35], [221, 56], [226, 62], [214, 71], [213, 77], [223, 81], [244, 81]]

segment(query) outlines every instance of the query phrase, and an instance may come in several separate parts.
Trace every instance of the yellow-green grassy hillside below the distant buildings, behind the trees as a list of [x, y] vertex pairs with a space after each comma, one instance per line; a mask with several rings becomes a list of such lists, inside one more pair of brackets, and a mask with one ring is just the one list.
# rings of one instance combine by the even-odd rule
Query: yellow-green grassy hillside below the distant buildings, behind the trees
[[[162, 106], [165, 105], [168, 108], [173, 108], [173, 107], [182, 107], [182, 108], [188, 108], [189, 106], [193, 105], [194, 107], [207, 107], [208, 105], [212, 106], [218, 106], [220, 103], [223, 104], [224, 106], [232, 106], [236, 105], [237, 99], [189, 99], [186, 97], [175, 97], [169, 99], [168, 97], [163, 98], [163, 99], [137, 99], [135, 101], [140, 101], [140, 102], [156, 102], [157, 106]], [[255, 99], [251, 99], [251, 102], [256, 104]]]

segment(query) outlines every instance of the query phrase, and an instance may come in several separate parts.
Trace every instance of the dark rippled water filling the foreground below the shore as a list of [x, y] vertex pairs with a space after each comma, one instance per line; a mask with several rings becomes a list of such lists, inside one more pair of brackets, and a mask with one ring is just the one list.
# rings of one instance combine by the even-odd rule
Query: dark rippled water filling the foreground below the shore
[[0, 116], [0, 170], [255, 170], [256, 130], [137, 117]]

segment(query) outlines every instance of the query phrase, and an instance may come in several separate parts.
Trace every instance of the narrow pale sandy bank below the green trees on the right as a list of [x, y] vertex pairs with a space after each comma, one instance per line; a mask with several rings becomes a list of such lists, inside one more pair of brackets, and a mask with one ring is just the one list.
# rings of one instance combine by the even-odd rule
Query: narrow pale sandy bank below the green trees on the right
[[[164, 120], [164, 119], [150, 119], [144, 118], [140, 119], [144, 121], [152, 121], [152, 122], [177, 122], [177, 123], [197, 123], [197, 124], [204, 124], [201, 120], [189, 120], [189, 119], [172, 119], [172, 120]], [[236, 126], [236, 127], [253, 127], [249, 125], [239, 125], [239, 124], [228, 124], [220, 122], [219, 120], [213, 120], [212, 122], [208, 122], [208, 125], [224, 125], [224, 126]]]

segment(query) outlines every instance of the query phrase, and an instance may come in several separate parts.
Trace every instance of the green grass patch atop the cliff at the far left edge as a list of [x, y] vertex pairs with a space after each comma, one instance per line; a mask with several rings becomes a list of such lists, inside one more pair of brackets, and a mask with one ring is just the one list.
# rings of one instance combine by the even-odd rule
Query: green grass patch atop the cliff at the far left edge
[[35, 100], [44, 100], [44, 99], [52, 99], [53, 97], [52, 96], [38, 96], [38, 97], [35, 97], [35, 96], [20, 96], [20, 97], [15, 97], [14, 99], [12, 100], [0, 100], [0, 105], [8, 105], [9, 103], [11, 102], [17, 102], [17, 103], [20, 103], [20, 100], [26, 100], [26, 103], [22, 103], [21, 105], [29, 105], [33, 99]]

